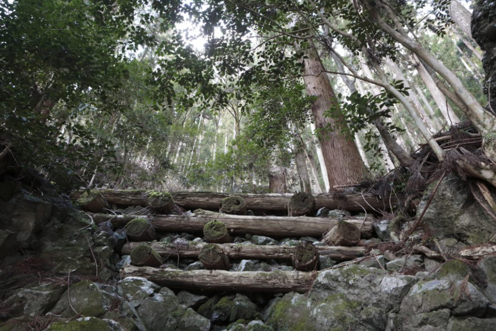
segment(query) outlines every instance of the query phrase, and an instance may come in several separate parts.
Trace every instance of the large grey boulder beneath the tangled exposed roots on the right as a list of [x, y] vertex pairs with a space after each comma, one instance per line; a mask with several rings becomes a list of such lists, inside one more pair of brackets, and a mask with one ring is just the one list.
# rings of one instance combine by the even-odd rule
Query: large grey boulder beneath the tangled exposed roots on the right
[[[417, 217], [436, 184], [433, 182], [424, 193]], [[439, 185], [422, 222], [435, 229], [436, 238], [456, 239], [467, 245], [485, 243], [496, 233], [496, 222], [474, 200], [468, 184], [453, 175], [446, 176]]]

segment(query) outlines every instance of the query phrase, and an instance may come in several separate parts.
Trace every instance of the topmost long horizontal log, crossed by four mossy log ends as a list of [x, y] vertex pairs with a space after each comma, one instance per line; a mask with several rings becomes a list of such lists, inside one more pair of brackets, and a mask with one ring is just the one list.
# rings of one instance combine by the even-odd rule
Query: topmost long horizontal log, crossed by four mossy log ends
[[[105, 196], [111, 205], [120, 206], [147, 206], [145, 190], [96, 190]], [[71, 198], [78, 198], [84, 191], [74, 191]], [[183, 205], [186, 209], [209, 209], [218, 211], [220, 202], [229, 196], [227, 193], [218, 192], [170, 192], [176, 203]], [[237, 194], [244, 199], [246, 208], [249, 210], [263, 211], [288, 211], [289, 200], [293, 194], [270, 193], [270, 194]], [[374, 211], [389, 210], [389, 197], [384, 201], [376, 194], [315, 194], [315, 208], [325, 207], [329, 210], [342, 209], [350, 212], [363, 212], [363, 210]], [[395, 199], [391, 197], [391, 204]]]

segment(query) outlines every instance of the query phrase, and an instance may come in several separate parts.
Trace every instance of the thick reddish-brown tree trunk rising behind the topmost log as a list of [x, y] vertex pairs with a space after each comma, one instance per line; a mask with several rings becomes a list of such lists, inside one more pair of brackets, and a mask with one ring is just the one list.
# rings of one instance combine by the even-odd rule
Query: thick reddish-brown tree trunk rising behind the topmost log
[[[316, 97], [311, 109], [315, 126], [321, 130], [318, 138], [329, 185], [335, 187], [357, 183], [366, 176], [367, 168], [355, 142], [341, 133], [341, 126], [346, 124], [324, 116], [325, 111], [337, 106], [337, 99], [315, 50], [312, 49], [307, 53], [308, 57], [303, 59], [305, 67], [303, 81], [307, 94]], [[332, 131], [327, 128], [332, 128]]]

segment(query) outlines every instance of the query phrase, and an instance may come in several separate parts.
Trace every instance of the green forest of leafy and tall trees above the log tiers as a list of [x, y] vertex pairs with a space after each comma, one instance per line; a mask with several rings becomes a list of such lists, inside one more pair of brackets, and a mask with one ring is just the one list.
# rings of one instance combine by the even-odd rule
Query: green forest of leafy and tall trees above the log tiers
[[[0, 161], [62, 190], [323, 192], [428, 146], [494, 185], [470, 6], [0, 0]], [[483, 157], [437, 140], [466, 121]]]

